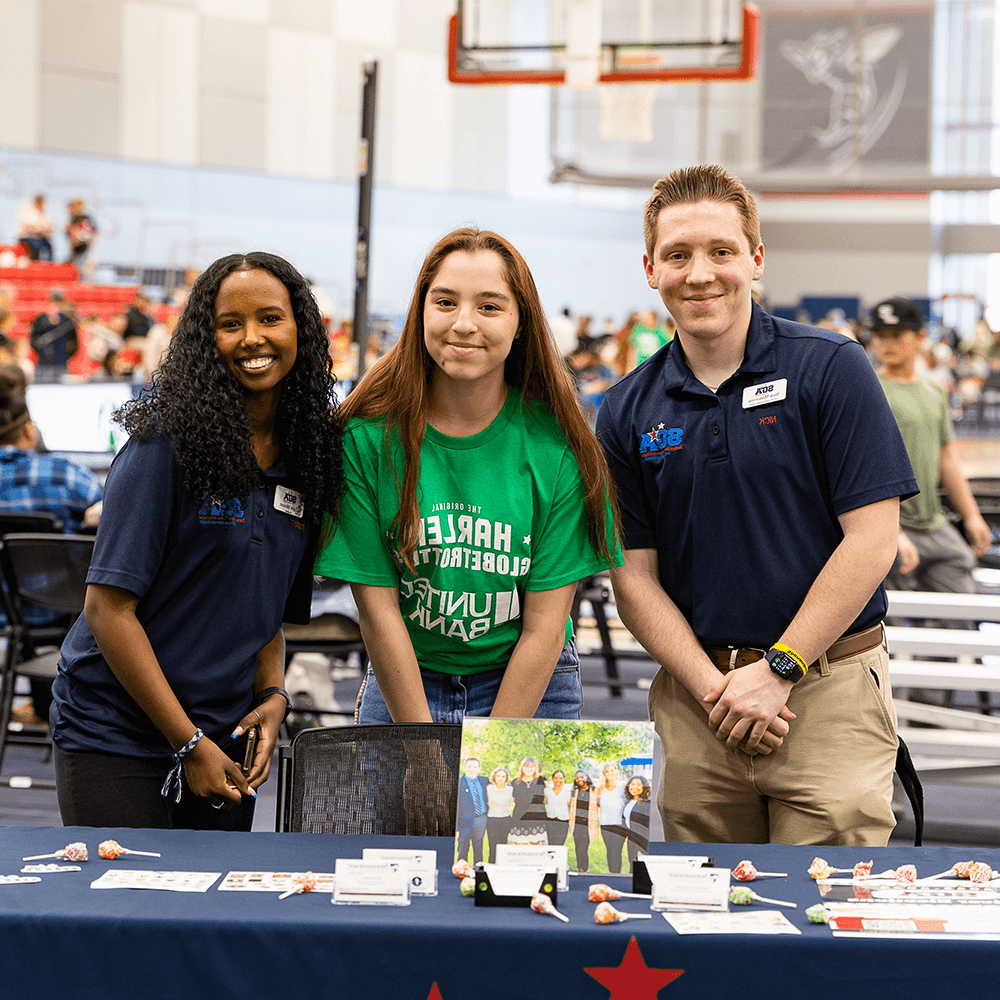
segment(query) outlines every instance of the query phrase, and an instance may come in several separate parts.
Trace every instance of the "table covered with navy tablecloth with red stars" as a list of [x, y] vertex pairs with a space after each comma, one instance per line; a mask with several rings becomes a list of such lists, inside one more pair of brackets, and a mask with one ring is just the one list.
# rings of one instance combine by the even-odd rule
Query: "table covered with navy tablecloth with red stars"
[[[109, 838], [162, 858], [102, 860], [97, 847]], [[969, 860], [968, 849], [654, 845], [655, 853], [707, 854], [719, 867], [749, 859], [789, 873], [751, 885], [796, 902], [782, 912], [801, 935], [682, 936], [660, 914], [597, 925], [587, 887], [627, 891], [631, 879], [622, 876], [571, 877], [558, 898], [565, 924], [528, 909], [477, 907], [451, 875], [448, 839], [0, 827], [0, 875], [73, 841], [90, 851], [82, 871], [0, 885], [0, 996], [913, 1000], [990, 996], [1000, 973], [1000, 942], [835, 938], [805, 917], [820, 899], [807, 874], [817, 854], [836, 867], [871, 858], [876, 872], [914, 864], [929, 875]], [[332, 872], [337, 858], [360, 858], [364, 847], [436, 849], [439, 894], [378, 907], [334, 906], [329, 893], [279, 901], [277, 893], [220, 892], [221, 879], [204, 893], [90, 888], [111, 868]], [[975, 859], [1000, 868], [1000, 851], [977, 850]], [[647, 909], [637, 899], [616, 905]]]

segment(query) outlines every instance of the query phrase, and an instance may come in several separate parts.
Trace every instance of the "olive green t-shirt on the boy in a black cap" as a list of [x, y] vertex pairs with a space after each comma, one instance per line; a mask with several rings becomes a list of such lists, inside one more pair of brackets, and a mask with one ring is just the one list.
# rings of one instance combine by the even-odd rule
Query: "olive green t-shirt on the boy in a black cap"
[[903, 435], [920, 492], [899, 505], [899, 523], [905, 528], [930, 530], [948, 523], [941, 509], [941, 448], [952, 437], [948, 394], [939, 385], [919, 379], [895, 382], [879, 376], [892, 415]]

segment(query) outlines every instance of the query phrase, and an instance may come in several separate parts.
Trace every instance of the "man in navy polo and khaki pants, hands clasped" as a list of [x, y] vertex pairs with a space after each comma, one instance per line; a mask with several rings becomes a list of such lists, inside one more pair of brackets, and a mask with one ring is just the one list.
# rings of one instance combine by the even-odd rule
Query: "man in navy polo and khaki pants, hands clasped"
[[756, 205], [675, 171], [643, 262], [674, 340], [598, 416], [618, 490], [622, 621], [660, 664], [667, 839], [884, 845], [895, 712], [881, 586], [916, 492], [863, 349], [769, 316]]

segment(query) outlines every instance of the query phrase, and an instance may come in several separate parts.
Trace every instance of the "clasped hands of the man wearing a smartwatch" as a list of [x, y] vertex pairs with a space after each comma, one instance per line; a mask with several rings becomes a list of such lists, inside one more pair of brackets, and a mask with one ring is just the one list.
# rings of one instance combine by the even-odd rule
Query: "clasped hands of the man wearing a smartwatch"
[[716, 739], [747, 753], [769, 754], [784, 742], [795, 718], [785, 702], [792, 682], [775, 674], [764, 659], [727, 674], [702, 698]]

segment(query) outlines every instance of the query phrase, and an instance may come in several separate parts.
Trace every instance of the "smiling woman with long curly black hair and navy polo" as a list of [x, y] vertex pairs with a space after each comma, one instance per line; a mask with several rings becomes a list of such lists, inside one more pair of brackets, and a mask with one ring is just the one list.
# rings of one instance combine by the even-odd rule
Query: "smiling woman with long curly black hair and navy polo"
[[309, 620], [340, 488], [327, 345], [287, 261], [224, 257], [117, 412], [131, 438], [53, 686], [67, 825], [250, 829], [288, 706], [281, 622]]

